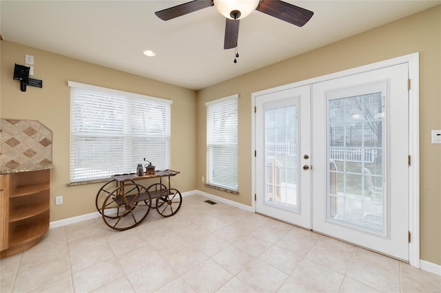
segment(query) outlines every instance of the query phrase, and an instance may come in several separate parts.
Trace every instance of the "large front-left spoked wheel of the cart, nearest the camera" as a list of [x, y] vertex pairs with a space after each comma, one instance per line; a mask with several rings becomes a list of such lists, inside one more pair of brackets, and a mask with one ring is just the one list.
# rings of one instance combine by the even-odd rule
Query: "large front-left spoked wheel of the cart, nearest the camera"
[[[130, 191], [130, 194], [125, 191]], [[147, 193], [144, 186], [123, 184], [107, 195], [101, 207], [101, 215], [110, 228], [127, 230], [138, 226], [147, 217], [151, 202], [150, 193]]]

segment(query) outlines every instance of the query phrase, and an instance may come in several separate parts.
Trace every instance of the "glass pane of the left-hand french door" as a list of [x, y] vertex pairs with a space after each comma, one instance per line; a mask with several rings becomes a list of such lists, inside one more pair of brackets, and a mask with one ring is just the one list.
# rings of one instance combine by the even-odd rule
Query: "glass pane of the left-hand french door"
[[265, 110], [265, 204], [298, 212], [298, 108]]

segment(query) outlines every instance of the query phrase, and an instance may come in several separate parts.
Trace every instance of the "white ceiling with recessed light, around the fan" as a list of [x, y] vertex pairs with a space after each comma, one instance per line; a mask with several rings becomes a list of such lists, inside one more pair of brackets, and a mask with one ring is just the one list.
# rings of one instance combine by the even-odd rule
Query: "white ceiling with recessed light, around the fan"
[[[154, 14], [185, 2], [1, 0], [0, 33], [6, 41], [197, 90], [441, 3], [287, 0], [314, 16], [298, 28], [252, 12], [240, 21], [234, 64], [216, 8], [170, 21]], [[143, 55], [147, 49], [156, 56]]]

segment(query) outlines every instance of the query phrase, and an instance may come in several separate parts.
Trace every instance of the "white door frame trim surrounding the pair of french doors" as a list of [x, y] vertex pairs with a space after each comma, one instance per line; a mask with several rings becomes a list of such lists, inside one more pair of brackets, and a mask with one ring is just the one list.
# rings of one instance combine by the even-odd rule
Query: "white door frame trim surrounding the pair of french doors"
[[252, 93], [252, 209], [256, 211], [256, 202], [254, 201], [256, 195], [256, 162], [254, 157], [254, 151], [256, 149], [256, 121], [254, 115], [256, 96], [269, 94], [274, 91], [282, 91], [292, 87], [301, 87], [303, 85], [320, 83], [322, 81], [331, 80], [334, 78], [359, 74], [362, 72], [368, 72], [402, 63], [408, 63], [410, 79], [409, 155], [411, 156], [411, 165], [409, 166], [409, 232], [411, 233], [411, 242], [409, 243], [409, 263], [413, 265], [413, 267], [420, 268], [420, 54], [418, 52], [361, 67], [347, 69], [334, 74], [318, 76], [316, 78], [302, 80], [289, 85], [282, 85], [280, 87], [274, 87]]

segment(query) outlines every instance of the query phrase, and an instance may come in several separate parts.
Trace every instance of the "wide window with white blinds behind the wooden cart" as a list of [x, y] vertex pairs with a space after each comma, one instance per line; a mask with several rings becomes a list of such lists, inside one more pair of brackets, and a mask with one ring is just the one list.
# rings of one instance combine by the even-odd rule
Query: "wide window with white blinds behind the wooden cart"
[[70, 182], [170, 166], [172, 101], [69, 81]]

